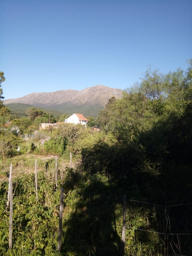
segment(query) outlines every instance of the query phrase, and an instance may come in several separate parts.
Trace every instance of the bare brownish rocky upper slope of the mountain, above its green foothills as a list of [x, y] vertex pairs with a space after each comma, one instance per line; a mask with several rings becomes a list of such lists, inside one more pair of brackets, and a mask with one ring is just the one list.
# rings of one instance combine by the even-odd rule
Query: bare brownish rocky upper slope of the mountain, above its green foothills
[[66, 105], [101, 105], [104, 106], [108, 100], [115, 96], [120, 98], [122, 90], [106, 86], [93, 86], [82, 91], [61, 90], [49, 93], [31, 93], [17, 99], [4, 100], [4, 104], [23, 103], [38, 107], [61, 109]]

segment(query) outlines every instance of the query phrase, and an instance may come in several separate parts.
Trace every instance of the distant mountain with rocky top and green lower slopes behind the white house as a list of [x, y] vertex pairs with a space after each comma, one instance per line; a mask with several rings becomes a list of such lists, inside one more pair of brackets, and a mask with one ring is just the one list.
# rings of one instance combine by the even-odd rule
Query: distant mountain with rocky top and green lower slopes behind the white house
[[4, 100], [4, 104], [13, 109], [14, 104], [30, 104], [38, 108], [57, 110], [62, 113], [97, 116], [100, 109], [111, 97], [121, 98], [122, 90], [106, 86], [93, 86], [82, 91], [60, 90], [49, 93], [31, 93], [24, 97]]

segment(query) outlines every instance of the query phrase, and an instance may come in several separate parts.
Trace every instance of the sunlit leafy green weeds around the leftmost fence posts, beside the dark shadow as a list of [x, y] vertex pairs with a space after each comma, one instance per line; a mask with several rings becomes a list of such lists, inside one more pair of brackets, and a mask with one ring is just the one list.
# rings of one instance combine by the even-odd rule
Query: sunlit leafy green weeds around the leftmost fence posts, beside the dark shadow
[[[9, 214], [1, 209], [1, 247], [2, 255], [57, 255], [57, 225], [59, 191], [53, 195], [52, 184], [45, 183], [44, 173], [38, 174], [39, 201], [36, 203], [34, 175], [23, 176], [13, 184], [13, 249], [8, 250], [8, 233], [6, 222]], [[46, 184], [46, 186], [45, 186]], [[1, 200], [6, 202], [8, 183], [1, 186]]]

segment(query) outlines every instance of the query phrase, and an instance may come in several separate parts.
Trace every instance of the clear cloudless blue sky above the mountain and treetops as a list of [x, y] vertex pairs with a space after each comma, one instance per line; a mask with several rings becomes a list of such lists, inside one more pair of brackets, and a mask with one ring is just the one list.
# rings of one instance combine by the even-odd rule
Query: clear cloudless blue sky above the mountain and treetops
[[0, 0], [5, 99], [33, 92], [126, 89], [151, 65], [186, 70], [191, 0]]

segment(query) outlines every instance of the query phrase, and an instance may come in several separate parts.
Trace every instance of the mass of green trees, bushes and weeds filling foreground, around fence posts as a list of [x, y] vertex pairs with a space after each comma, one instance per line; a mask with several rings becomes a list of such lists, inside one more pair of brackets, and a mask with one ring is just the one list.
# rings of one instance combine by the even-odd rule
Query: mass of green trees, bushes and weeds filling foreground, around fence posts
[[[23, 141], [13, 125], [3, 129], [10, 114], [1, 114], [1, 253], [120, 255], [125, 194], [125, 255], [191, 255], [191, 79], [191, 61], [186, 71], [161, 74], [147, 70], [122, 99], [109, 99], [96, 120], [99, 132], [65, 124], [38, 131], [34, 138]], [[19, 127], [21, 120], [17, 120]], [[93, 118], [90, 120], [94, 125]], [[20, 151], [16, 151], [18, 146]], [[44, 159], [50, 155], [58, 156], [57, 189], [54, 158]], [[33, 165], [37, 157], [36, 202]], [[13, 249], [8, 249], [6, 174], [11, 162], [14, 226]], [[19, 175], [26, 168], [32, 173]], [[65, 193], [59, 253], [60, 187]]]

